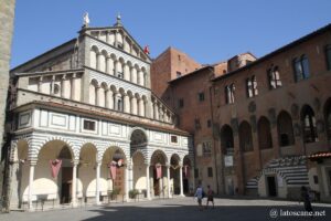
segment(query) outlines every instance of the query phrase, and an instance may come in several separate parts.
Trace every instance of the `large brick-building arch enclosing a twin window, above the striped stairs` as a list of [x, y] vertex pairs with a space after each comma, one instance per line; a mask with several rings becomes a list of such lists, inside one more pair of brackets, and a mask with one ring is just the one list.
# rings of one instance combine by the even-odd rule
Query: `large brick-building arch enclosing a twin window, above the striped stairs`
[[301, 123], [303, 127], [303, 141], [318, 141], [314, 113], [309, 105], [305, 105], [301, 109]]

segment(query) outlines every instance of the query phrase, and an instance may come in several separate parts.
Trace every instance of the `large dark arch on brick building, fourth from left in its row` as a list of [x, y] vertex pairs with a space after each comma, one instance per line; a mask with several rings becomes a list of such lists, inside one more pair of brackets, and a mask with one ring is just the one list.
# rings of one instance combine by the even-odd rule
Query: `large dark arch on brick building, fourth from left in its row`
[[292, 118], [287, 112], [281, 112], [277, 117], [278, 140], [280, 147], [295, 144]]

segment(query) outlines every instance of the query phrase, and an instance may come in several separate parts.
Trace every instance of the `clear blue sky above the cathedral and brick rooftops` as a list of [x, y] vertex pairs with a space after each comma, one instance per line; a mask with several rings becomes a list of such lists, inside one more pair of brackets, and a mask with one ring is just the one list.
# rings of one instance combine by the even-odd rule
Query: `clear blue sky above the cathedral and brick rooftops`
[[330, 0], [17, 0], [11, 67], [90, 27], [122, 23], [151, 57], [174, 46], [200, 63], [250, 51], [260, 57], [331, 23]]

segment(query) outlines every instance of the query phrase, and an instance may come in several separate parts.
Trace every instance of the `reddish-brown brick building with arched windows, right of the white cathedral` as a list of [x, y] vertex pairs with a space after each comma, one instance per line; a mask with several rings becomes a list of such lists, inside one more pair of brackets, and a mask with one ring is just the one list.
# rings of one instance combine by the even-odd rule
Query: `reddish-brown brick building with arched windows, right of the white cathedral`
[[[292, 199], [309, 186], [330, 200], [330, 28], [260, 59], [248, 52], [166, 77], [166, 102], [194, 136], [197, 181], [220, 193]], [[171, 64], [158, 61], [151, 78]]]

